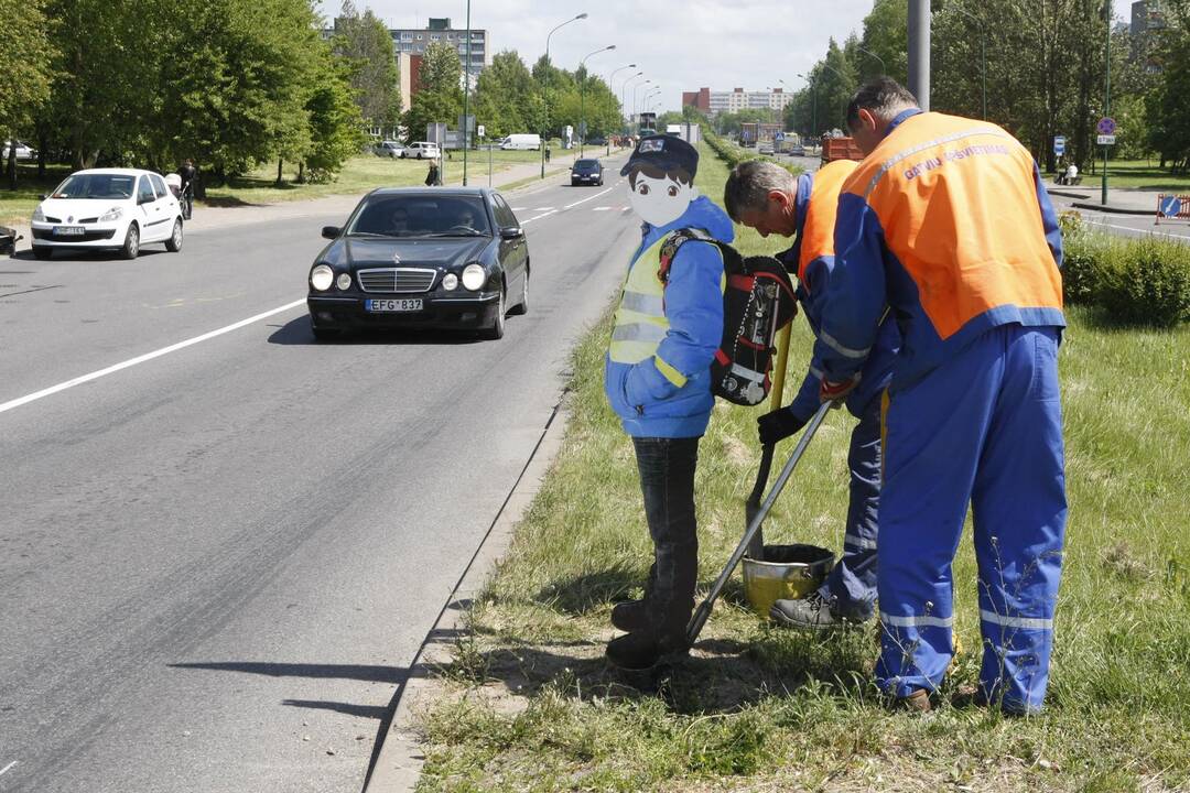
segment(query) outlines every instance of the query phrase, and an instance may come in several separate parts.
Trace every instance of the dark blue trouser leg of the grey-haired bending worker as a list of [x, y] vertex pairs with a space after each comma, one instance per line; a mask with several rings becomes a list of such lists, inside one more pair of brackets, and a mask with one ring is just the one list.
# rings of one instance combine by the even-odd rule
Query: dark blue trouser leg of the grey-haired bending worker
[[876, 531], [881, 501], [881, 398], [877, 394], [851, 430], [847, 453], [851, 503], [843, 554], [819, 594], [838, 616], [863, 622], [876, 609]]

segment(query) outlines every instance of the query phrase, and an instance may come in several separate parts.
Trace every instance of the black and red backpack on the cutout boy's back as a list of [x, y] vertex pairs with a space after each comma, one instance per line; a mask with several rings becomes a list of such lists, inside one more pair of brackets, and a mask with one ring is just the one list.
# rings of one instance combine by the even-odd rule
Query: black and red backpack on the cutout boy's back
[[769, 256], [744, 257], [701, 228], [679, 228], [662, 245], [657, 277], [669, 283], [678, 248], [694, 240], [708, 243], [724, 256], [724, 335], [710, 361], [710, 391], [728, 402], [756, 405], [772, 388], [769, 373], [777, 331], [797, 316], [797, 297], [785, 268]]

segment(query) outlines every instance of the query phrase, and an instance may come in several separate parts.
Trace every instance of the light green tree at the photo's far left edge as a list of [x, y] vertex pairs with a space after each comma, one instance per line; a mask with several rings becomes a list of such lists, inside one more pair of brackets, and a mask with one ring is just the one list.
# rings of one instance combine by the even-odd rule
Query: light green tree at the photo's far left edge
[[[0, 0], [0, 140], [15, 140], [50, 96], [54, 49], [39, 0]], [[8, 189], [17, 189], [15, 146], [8, 151]]]

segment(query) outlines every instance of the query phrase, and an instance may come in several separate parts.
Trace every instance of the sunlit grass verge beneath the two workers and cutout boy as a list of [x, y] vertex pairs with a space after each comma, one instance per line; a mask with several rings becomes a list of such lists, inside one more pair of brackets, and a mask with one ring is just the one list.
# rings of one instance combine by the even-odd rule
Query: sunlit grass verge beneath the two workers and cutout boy
[[[699, 183], [726, 171], [704, 151]], [[745, 232], [745, 252], [772, 251]], [[651, 543], [632, 446], [602, 394], [608, 321], [574, 354], [551, 474], [468, 615], [427, 715], [420, 791], [1170, 791], [1190, 788], [1190, 326], [1102, 328], [1061, 351], [1071, 504], [1046, 711], [952, 701], [978, 674], [970, 536], [956, 562], [963, 650], [941, 705], [890, 713], [875, 628], [807, 636], [758, 622], [737, 574], [689, 661], [640, 680], [603, 663], [610, 604], [639, 594]], [[794, 329], [789, 398], [810, 335]], [[744, 529], [760, 409], [720, 403], [700, 447], [703, 590]], [[853, 420], [833, 413], [765, 524], [838, 548]], [[779, 454], [788, 454], [787, 445]]]

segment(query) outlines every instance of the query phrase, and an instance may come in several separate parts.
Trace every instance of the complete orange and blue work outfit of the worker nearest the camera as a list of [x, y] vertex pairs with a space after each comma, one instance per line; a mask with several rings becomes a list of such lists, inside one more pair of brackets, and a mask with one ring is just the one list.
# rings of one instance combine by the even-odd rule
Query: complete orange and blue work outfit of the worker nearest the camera
[[933, 690], [952, 655], [951, 562], [975, 525], [981, 684], [1041, 706], [1066, 523], [1057, 352], [1061, 235], [1029, 153], [1002, 128], [907, 111], [848, 177], [816, 353], [859, 371], [891, 310], [877, 682]]

